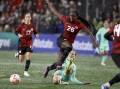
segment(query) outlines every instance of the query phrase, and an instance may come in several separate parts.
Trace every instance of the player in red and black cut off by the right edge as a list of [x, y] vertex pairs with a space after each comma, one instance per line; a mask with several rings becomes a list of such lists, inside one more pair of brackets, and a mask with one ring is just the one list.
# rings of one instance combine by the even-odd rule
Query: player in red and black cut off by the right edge
[[[112, 41], [112, 60], [120, 68], [120, 21], [105, 34], [105, 38]], [[120, 73], [116, 74], [109, 82], [103, 84], [101, 89], [109, 89], [113, 84], [120, 82]]]

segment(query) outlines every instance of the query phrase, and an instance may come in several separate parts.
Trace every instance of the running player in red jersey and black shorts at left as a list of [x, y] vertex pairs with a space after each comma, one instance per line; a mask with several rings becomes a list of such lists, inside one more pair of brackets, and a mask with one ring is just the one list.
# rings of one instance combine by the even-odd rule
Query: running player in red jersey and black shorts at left
[[24, 76], [30, 76], [28, 69], [32, 58], [32, 35], [37, 34], [36, 28], [32, 25], [31, 14], [25, 14], [22, 23], [17, 27], [16, 33], [19, 37], [19, 60], [23, 62], [26, 59]]

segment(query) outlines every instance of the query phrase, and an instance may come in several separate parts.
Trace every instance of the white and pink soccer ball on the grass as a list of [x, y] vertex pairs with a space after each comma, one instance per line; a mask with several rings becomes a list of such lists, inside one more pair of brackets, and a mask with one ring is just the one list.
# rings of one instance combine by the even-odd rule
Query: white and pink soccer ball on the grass
[[13, 85], [18, 85], [21, 82], [19, 74], [12, 74], [10, 76], [10, 83]]

